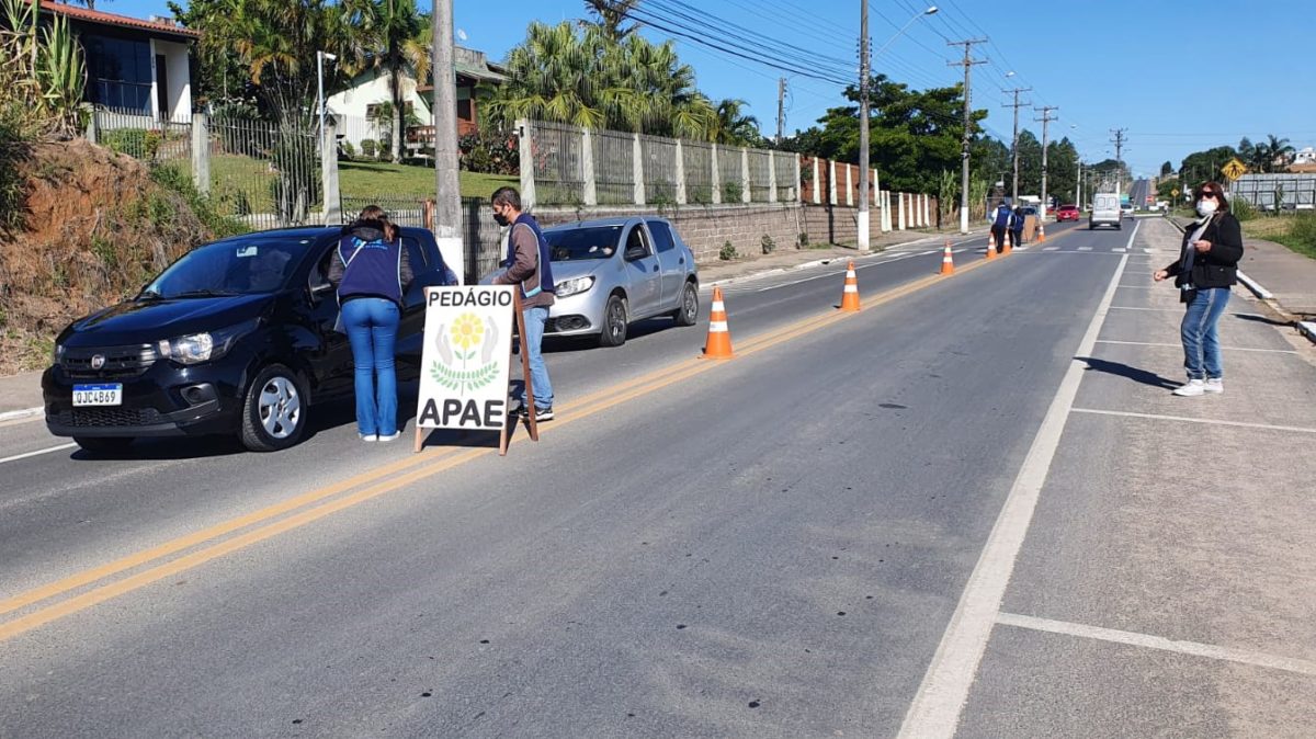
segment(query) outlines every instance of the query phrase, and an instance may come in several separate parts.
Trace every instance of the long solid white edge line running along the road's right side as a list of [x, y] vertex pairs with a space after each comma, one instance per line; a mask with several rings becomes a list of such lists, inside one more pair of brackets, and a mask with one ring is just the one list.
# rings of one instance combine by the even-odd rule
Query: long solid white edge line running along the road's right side
[[[1133, 226], [1129, 234], [1129, 243], [1138, 233], [1138, 226]], [[950, 625], [937, 644], [937, 654], [932, 657], [926, 675], [919, 685], [919, 693], [905, 713], [904, 723], [900, 726], [900, 736], [905, 739], [950, 739], [959, 725], [959, 713], [969, 700], [969, 689], [974, 684], [978, 665], [982, 663], [983, 652], [987, 650], [987, 640], [991, 638], [992, 626], [996, 623], [996, 614], [1000, 611], [1000, 601], [1005, 596], [1005, 586], [1015, 571], [1015, 559], [1024, 546], [1024, 536], [1033, 521], [1033, 512], [1037, 508], [1037, 498], [1046, 481], [1046, 473], [1055, 458], [1055, 450], [1061, 443], [1061, 434], [1065, 431], [1065, 422], [1074, 398], [1078, 396], [1079, 383], [1087, 371], [1087, 362], [1080, 356], [1091, 356], [1096, 337], [1101, 333], [1107, 310], [1115, 300], [1115, 291], [1120, 285], [1124, 275], [1124, 266], [1128, 255], [1120, 258], [1111, 283], [1105, 287], [1105, 295], [1096, 308], [1096, 314], [1079, 342], [1078, 351], [1070, 360], [1065, 379], [1061, 380], [1055, 397], [1046, 410], [1042, 426], [1033, 438], [1033, 444], [1028, 450], [1024, 465], [1015, 477], [1015, 485], [1005, 497], [1005, 505], [992, 526], [987, 546], [983, 547], [978, 564], [974, 565], [969, 584], [959, 596], [955, 613], [950, 617]]]

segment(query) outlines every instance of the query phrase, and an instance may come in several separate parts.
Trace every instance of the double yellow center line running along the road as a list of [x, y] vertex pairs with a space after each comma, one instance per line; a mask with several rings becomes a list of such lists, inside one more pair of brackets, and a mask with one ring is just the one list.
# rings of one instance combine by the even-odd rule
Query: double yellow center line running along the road
[[[975, 262], [966, 267], [958, 268], [957, 274], [976, 268], [982, 264], [983, 260]], [[866, 302], [865, 308], [873, 308], [890, 302], [892, 300], [911, 295], [925, 287], [929, 287], [932, 284], [944, 280], [945, 277], [942, 277], [941, 275], [930, 275], [928, 277], [907, 283], [904, 285], [879, 293], [875, 298], [870, 298]], [[826, 313], [815, 314], [795, 321], [792, 323], [786, 325], [784, 327], [772, 331], [763, 331], [755, 334], [754, 337], [749, 338], [747, 341], [740, 345], [737, 355], [749, 356], [759, 351], [765, 351], [787, 341], [811, 334], [821, 327], [829, 326], [838, 321], [844, 321], [850, 316], [854, 314], [842, 313], [840, 310], [829, 310]], [[615, 385], [609, 385], [607, 388], [603, 388], [597, 392], [590, 393], [579, 398], [575, 402], [576, 410], [561, 414], [558, 417], [557, 423], [554, 423], [551, 427], [541, 429], [540, 433], [541, 434], [551, 433], [557, 429], [570, 425], [574, 421], [590, 418], [604, 410], [615, 408], [622, 402], [629, 402], [634, 398], [650, 394], [653, 392], [670, 387], [675, 383], [679, 383], [695, 375], [713, 370], [721, 364], [724, 364], [724, 362], [700, 360], [697, 358], [691, 358], [687, 360], [676, 362], [674, 364], [663, 366], [659, 370], [647, 372], [638, 377]], [[525, 443], [526, 441], [528, 441], [526, 437], [517, 437], [512, 439], [512, 443], [521, 444]], [[13, 610], [37, 604], [39, 601], [93, 584], [97, 580], [103, 580], [105, 577], [111, 577], [113, 575], [118, 575], [129, 569], [146, 565], [154, 560], [159, 560], [162, 558], [167, 558], [170, 555], [182, 552], [184, 550], [200, 546], [212, 539], [233, 534], [242, 529], [247, 529], [250, 526], [255, 526], [258, 523], [278, 517], [284, 517], [266, 526], [253, 529], [237, 536], [232, 536], [222, 542], [215, 543], [209, 547], [186, 554], [180, 558], [172, 559], [167, 563], [159, 564], [150, 569], [137, 572], [134, 575], [124, 577], [122, 580], [116, 580], [107, 585], [93, 588], [91, 590], [59, 601], [50, 606], [38, 609], [30, 614], [8, 621], [0, 625], [0, 640], [9, 639], [17, 634], [22, 634], [24, 631], [36, 629], [38, 626], [62, 618], [64, 615], [70, 615], [72, 613], [91, 608], [96, 604], [139, 589], [145, 585], [149, 585], [164, 577], [178, 575], [179, 572], [191, 569], [193, 567], [197, 567], [220, 556], [242, 550], [245, 547], [266, 540], [278, 534], [291, 531], [293, 529], [297, 529], [300, 526], [324, 518], [325, 515], [329, 515], [332, 513], [337, 513], [340, 510], [355, 506], [363, 501], [396, 490], [412, 483], [424, 480], [445, 469], [451, 469], [467, 462], [475, 460], [480, 456], [492, 454], [492, 451], [494, 451], [492, 448], [476, 448], [465, 451], [445, 450], [442, 454], [438, 455], [438, 458], [425, 454], [412, 455], [400, 459], [397, 462], [384, 464], [375, 469], [363, 472], [361, 475], [355, 475], [347, 480], [336, 483], [333, 485], [328, 485], [316, 490], [309, 490], [301, 496], [296, 496], [288, 498], [287, 501], [266, 506], [247, 515], [242, 515], [230, 521], [217, 523], [215, 526], [209, 526], [193, 534], [179, 536], [170, 542], [164, 542], [159, 546], [128, 555], [125, 558], [120, 558], [100, 567], [95, 567], [71, 575], [62, 580], [14, 596], [9, 600], [0, 601], [0, 614], [11, 613]], [[420, 468], [412, 469], [416, 467]], [[383, 477], [388, 477], [388, 480], [380, 483], [379, 480]], [[329, 502], [321, 502], [325, 501], [326, 498], [332, 498], [334, 496], [338, 496], [361, 485], [367, 485], [367, 487], [351, 494], [332, 500]], [[287, 515], [303, 508], [305, 508], [305, 510], [301, 510], [292, 515]]]

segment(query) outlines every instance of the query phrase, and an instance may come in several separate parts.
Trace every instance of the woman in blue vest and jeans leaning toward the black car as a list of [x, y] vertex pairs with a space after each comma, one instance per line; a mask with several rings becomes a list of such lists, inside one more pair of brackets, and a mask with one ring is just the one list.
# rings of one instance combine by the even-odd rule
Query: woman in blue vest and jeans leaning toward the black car
[[329, 281], [338, 287], [357, 370], [357, 430], [365, 442], [391, 442], [400, 435], [393, 346], [412, 268], [383, 208], [370, 205], [343, 227]]

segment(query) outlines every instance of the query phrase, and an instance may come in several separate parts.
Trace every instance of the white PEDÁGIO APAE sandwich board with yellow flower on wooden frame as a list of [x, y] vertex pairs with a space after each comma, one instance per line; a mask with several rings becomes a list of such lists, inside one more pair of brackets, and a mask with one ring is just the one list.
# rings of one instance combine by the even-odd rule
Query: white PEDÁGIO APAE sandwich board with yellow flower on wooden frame
[[[415, 451], [428, 430], [451, 429], [500, 431], [499, 451], [507, 454], [513, 326], [520, 329], [528, 400], [534, 401], [520, 305], [515, 285], [425, 288]], [[528, 419], [530, 438], [538, 441], [534, 414]]]

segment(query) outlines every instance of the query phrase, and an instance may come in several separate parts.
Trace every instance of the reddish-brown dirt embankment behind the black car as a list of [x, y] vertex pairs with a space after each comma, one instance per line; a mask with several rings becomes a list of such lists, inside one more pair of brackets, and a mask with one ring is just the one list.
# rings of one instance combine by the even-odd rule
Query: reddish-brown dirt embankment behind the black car
[[26, 146], [22, 224], [0, 231], [0, 375], [45, 366], [74, 318], [136, 293], [208, 238], [138, 160], [82, 139]]

